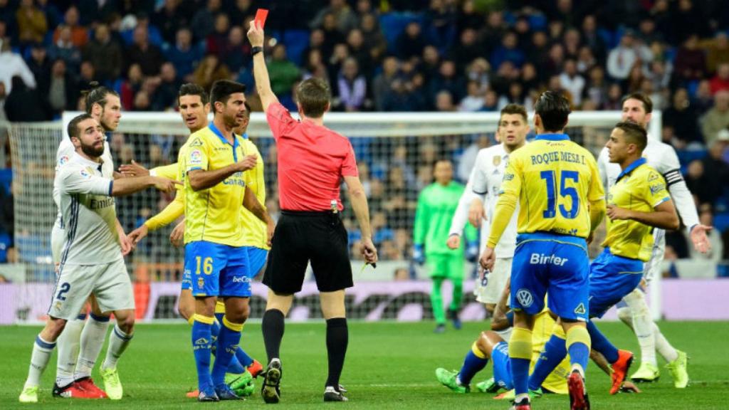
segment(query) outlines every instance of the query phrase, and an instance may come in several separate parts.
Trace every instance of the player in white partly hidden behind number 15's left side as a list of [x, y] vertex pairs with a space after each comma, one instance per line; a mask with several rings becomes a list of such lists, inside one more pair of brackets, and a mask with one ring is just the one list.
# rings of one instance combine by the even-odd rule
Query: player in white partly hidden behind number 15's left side
[[[529, 133], [526, 110], [517, 104], [504, 107], [496, 133], [501, 143], [478, 152], [466, 190], [459, 201], [459, 208], [451, 220], [448, 237], [448, 246], [451, 249], [459, 247], [466, 216], [472, 225], [481, 228], [481, 250], [486, 247], [484, 235], [488, 236], [490, 231], [488, 223], [494, 213], [509, 155], [526, 143], [526, 134]], [[486, 310], [492, 315], [511, 274], [511, 263], [516, 247], [516, 219], [516, 216], [512, 217], [496, 247], [497, 260], [494, 271], [485, 272], [483, 279], [477, 281], [474, 290], [476, 300], [484, 303]]]

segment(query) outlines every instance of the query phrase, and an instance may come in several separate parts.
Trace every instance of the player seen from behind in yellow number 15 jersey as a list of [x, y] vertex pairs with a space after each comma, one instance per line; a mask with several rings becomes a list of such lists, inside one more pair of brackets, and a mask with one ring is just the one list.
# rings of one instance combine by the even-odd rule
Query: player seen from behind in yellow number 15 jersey
[[496, 203], [483, 268], [493, 269], [494, 247], [518, 202], [517, 247], [511, 273], [514, 330], [509, 343], [516, 410], [529, 410], [529, 363], [534, 316], [545, 295], [566, 333], [573, 410], [588, 409], [585, 367], [590, 356], [587, 238], [604, 215], [604, 190], [593, 155], [564, 134], [569, 102], [554, 91], [534, 107], [534, 142], [512, 152]]

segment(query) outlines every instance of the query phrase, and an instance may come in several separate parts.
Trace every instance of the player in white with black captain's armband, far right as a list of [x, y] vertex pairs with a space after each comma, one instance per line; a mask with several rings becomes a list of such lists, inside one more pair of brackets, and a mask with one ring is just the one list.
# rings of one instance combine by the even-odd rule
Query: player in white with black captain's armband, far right
[[[623, 121], [631, 121], [647, 128], [651, 112], [652, 102], [645, 94], [632, 93], [623, 98]], [[649, 138], [643, 156], [647, 159], [648, 165], [660, 172], [666, 179], [668, 192], [671, 194], [684, 225], [687, 226], [687, 231], [695, 249], [699, 252], [708, 252], [710, 245], [709, 240], [706, 238], [706, 232], [711, 227], [701, 225], [698, 221], [693, 196], [681, 175], [681, 165], [674, 148], [656, 139]], [[603, 185], [607, 190], [615, 184], [617, 176], [620, 174], [620, 166], [610, 163], [607, 149], [603, 149], [598, 158], [598, 168]], [[666, 247], [664, 233], [665, 231], [660, 229], [653, 231], [655, 244], [652, 257], [644, 266], [643, 289], [650, 282], [653, 275], [661, 274], [660, 268]], [[634, 330], [641, 347], [641, 365], [638, 371], [631, 376], [631, 379], [637, 382], [658, 380], [660, 372], [655, 360], [655, 350], [658, 348], [660, 355], [668, 362], [666, 367], [671, 371], [671, 376], [674, 377], [675, 387], [686, 387], [688, 383], [687, 356], [685, 352], [674, 349], [660, 333], [658, 325], [652, 322], [644, 291], [636, 288], [636, 290], [625, 296], [623, 302], [617, 306], [618, 317]]]

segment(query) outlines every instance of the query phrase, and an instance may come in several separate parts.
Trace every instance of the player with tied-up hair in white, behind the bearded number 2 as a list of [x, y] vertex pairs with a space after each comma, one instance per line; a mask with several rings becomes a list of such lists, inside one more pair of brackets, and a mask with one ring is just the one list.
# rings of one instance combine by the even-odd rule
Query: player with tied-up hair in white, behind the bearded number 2
[[[114, 90], [106, 87], [95, 87], [85, 95], [87, 114], [90, 114], [105, 132], [117, 129], [121, 118], [121, 102]], [[74, 155], [74, 144], [71, 139], [61, 139], [56, 153], [56, 175]], [[104, 161], [102, 167], [106, 174], [114, 173], [114, 160], [109, 150], [109, 143], [104, 142]], [[58, 217], [51, 231], [52, 258], [56, 266], [61, 262], [61, 247], [66, 238], [66, 222], [61, 215], [59, 203], [58, 184], [53, 184], [53, 199], [58, 206]], [[120, 239], [122, 254], [127, 255], [132, 249], [122, 225], [115, 224]], [[95, 303], [93, 295], [90, 297], [91, 315], [86, 321], [87, 306], [66, 325], [66, 330], [58, 339], [58, 363], [56, 367], [56, 383], [53, 395], [61, 398], [104, 398], [106, 393], [96, 387], [91, 379], [91, 371], [96, 363], [101, 347], [104, 345], [106, 330], [109, 327], [109, 315], [102, 314]]]

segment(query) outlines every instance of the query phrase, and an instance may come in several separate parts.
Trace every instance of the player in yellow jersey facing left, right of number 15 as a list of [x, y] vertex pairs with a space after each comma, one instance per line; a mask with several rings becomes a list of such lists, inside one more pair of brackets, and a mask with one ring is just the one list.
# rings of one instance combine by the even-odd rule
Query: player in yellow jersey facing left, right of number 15
[[[653, 228], [679, 227], [666, 181], [642, 158], [646, 145], [646, 131], [635, 123], [617, 123], [607, 142], [610, 162], [618, 163], [621, 172], [607, 199], [605, 249], [590, 265], [590, 317], [602, 317], [639, 285], [643, 264], [652, 255]], [[592, 321], [588, 332], [593, 349], [612, 365], [610, 394], [615, 394], [623, 385], [633, 354], [613, 346]], [[562, 352], [556, 345], [548, 344], [545, 349], [546, 357], [553, 361], [564, 357]], [[537, 366], [541, 358], [539, 362]]]

